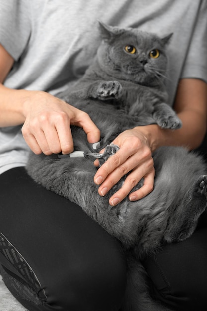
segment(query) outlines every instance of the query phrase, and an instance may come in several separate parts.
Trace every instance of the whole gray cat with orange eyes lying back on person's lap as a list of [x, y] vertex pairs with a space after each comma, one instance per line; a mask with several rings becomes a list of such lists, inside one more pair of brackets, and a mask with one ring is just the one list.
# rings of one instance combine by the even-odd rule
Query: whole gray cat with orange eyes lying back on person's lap
[[[118, 146], [110, 142], [126, 129], [157, 123], [178, 129], [181, 121], [166, 104], [165, 53], [171, 34], [159, 38], [137, 29], [120, 29], [100, 23], [103, 37], [94, 63], [83, 78], [60, 98], [86, 111], [101, 130], [105, 148], [100, 165]], [[81, 128], [72, 127], [75, 150], [93, 151]], [[207, 175], [202, 159], [181, 147], [161, 147], [153, 153], [156, 171], [154, 190], [145, 198], [127, 198], [112, 207], [109, 197], [98, 194], [93, 177], [94, 158], [62, 158], [34, 155], [27, 170], [32, 178], [57, 194], [79, 204], [83, 210], [118, 238], [128, 258], [128, 285], [122, 311], [170, 310], [154, 301], [141, 265], [145, 256], [162, 245], [188, 238], [207, 205]], [[141, 180], [135, 189], [143, 185]]]

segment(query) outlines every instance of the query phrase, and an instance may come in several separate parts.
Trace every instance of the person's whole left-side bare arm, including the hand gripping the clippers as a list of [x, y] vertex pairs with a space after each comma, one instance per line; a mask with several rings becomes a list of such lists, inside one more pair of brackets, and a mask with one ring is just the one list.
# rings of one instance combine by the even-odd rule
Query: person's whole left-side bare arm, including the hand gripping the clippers
[[0, 127], [23, 124], [24, 139], [36, 154], [72, 152], [70, 124], [82, 127], [90, 143], [100, 139], [100, 131], [85, 112], [43, 91], [5, 87], [3, 82], [13, 63], [0, 45]]

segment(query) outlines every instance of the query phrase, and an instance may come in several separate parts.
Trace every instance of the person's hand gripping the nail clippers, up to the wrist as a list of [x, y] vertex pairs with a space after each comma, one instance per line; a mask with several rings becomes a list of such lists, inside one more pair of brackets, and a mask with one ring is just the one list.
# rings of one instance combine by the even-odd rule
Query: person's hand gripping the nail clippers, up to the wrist
[[35, 154], [73, 151], [70, 125], [85, 131], [90, 143], [100, 139], [100, 131], [87, 113], [46, 92], [28, 92], [24, 102], [25, 122], [22, 134]]

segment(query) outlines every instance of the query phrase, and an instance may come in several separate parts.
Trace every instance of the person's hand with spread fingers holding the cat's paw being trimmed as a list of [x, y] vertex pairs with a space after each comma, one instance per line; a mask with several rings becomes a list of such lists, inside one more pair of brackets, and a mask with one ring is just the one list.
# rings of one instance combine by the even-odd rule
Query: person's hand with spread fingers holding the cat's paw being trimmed
[[121, 177], [130, 172], [121, 189], [109, 200], [110, 205], [115, 206], [142, 178], [143, 186], [130, 193], [129, 200], [136, 201], [149, 194], [153, 190], [155, 170], [148, 140], [138, 127], [121, 133], [113, 144], [118, 145], [120, 149], [98, 169], [94, 182], [100, 185], [98, 192], [104, 196]]

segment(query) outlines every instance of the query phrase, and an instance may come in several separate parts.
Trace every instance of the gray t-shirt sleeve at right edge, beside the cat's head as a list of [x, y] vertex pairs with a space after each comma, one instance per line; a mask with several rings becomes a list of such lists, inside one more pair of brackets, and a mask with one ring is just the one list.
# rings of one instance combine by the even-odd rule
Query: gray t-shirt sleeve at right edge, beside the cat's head
[[199, 78], [207, 83], [207, 1], [201, 2], [180, 78]]

